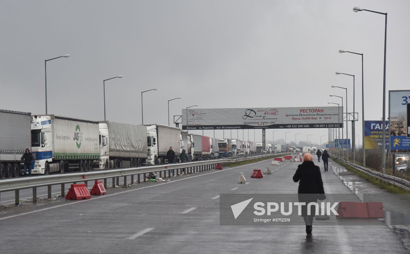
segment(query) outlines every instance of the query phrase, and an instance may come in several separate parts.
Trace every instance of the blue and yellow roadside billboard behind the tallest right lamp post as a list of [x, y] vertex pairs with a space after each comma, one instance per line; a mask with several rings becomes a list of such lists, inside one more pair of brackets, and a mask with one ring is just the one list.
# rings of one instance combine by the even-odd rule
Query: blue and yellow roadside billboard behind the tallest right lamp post
[[[364, 121], [364, 149], [383, 149], [383, 121]], [[389, 149], [389, 121], [386, 121], [385, 149]]]

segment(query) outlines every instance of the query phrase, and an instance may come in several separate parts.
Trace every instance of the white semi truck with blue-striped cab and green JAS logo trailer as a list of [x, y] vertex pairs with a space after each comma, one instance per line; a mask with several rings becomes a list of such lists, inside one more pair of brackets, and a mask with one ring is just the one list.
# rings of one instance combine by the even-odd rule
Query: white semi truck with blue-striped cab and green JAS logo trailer
[[[52, 114], [31, 117], [32, 174], [84, 171], [100, 160], [98, 121]], [[94, 164], [93, 164], [94, 163]]]

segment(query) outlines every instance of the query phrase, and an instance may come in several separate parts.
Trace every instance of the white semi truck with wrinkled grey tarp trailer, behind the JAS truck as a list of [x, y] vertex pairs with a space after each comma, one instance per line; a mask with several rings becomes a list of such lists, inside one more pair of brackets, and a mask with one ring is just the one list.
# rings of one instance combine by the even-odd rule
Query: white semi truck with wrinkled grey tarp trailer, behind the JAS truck
[[[100, 121], [100, 169], [139, 167], [147, 159], [147, 127]], [[125, 163], [123, 163], [125, 162]]]

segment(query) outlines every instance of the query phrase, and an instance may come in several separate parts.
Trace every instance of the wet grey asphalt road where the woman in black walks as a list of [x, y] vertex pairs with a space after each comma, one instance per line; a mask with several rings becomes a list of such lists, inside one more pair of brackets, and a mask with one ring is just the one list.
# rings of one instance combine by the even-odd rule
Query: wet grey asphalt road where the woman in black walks
[[[270, 164], [116, 188], [86, 201], [10, 208], [0, 214], [0, 253], [408, 253], [385, 224], [314, 225], [312, 237], [304, 226], [220, 226], [221, 193], [297, 192], [298, 162]], [[271, 175], [250, 178], [266, 166]], [[248, 184], [237, 183], [241, 172]], [[355, 195], [333, 172], [322, 178], [326, 193]]]

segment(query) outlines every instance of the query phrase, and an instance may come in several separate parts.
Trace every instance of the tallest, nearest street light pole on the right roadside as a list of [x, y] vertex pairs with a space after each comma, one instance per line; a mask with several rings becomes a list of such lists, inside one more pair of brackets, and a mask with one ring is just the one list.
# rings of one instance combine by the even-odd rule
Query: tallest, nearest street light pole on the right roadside
[[[383, 143], [386, 140], [386, 41], [387, 41], [387, 13], [383, 13], [383, 12], [378, 12], [378, 11], [371, 11], [371, 10], [367, 10], [367, 9], [362, 9], [360, 7], [354, 7], [353, 8], [354, 12], [358, 12], [358, 11], [369, 11], [369, 12], [374, 12], [377, 14], [383, 14], [385, 15], [385, 48], [384, 48], [384, 64], [383, 64], [383, 135], [382, 135], [382, 139], [383, 139]], [[364, 135], [363, 135], [363, 139], [364, 139]], [[363, 142], [363, 147], [364, 147], [364, 142]], [[364, 149], [363, 149], [364, 150]], [[382, 149], [382, 174], [386, 173], [386, 148], [383, 147]]]

